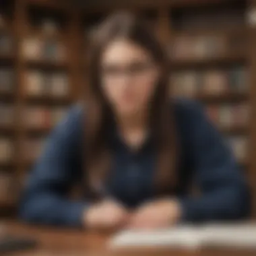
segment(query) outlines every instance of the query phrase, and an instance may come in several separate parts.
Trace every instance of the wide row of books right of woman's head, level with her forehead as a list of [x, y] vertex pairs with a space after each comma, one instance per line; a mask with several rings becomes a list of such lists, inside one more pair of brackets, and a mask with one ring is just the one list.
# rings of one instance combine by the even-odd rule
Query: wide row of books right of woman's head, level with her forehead
[[233, 41], [218, 35], [177, 36], [170, 45], [168, 54], [174, 60], [205, 59], [241, 52], [246, 47], [242, 42], [238, 44]]

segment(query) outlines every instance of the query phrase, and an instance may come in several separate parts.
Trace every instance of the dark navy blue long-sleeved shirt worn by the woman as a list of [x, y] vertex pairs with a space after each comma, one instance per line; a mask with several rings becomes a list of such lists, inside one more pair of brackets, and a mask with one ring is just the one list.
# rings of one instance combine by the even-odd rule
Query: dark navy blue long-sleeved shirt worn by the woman
[[[22, 201], [20, 216], [29, 222], [80, 226], [90, 200], [71, 201], [67, 191], [82, 179], [83, 110], [71, 108], [51, 133], [42, 156], [36, 162]], [[184, 222], [231, 220], [249, 214], [250, 196], [245, 177], [220, 133], [207, 120], [199, 104], [177, 100], [174, 120], [181, 144], [177, 199]], [[112, 197], [129, 207], [154, 198], [156, 154], [146, 143], [131, 154], [117, 136], [110, 137], [113, 166], [106, 181]], [[189, 194], [193, 180], [199, 197]], [[172, 196], [172, 195], [170, 195]]]

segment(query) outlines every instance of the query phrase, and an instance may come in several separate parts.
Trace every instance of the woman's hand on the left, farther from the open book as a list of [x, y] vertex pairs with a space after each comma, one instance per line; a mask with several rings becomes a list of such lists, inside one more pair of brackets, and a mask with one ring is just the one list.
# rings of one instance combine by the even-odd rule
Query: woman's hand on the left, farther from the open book
[[92, 205], [84, 213], [84, 226], [94, 230], [115, 230], [127, 224], [129, 213], [115, 201]]

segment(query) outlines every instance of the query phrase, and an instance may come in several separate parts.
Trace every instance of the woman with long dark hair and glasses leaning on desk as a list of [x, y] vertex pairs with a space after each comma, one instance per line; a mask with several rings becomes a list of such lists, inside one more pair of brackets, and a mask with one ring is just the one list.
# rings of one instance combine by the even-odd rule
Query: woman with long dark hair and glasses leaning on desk
[[[245, 179], [201, 108], [170, 102], [168, 61], [143, 22], [116, 13], [90, 51], [90, 92], [49, 138], [24, 220], [93, 229], [162, 228], [249, 214]], [[191, 181], [200, 189], [189, 195]], [[80, 184], [84, 197], [67, 193]]]

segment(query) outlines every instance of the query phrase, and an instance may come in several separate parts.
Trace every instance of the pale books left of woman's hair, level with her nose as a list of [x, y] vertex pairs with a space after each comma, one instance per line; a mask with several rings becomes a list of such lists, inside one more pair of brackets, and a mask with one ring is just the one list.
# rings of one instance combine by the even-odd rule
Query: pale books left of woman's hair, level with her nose
[[28, 71], [26, 73], [26, 92], [31, 96], [67, 96], [69, 79], [61, 72]]

